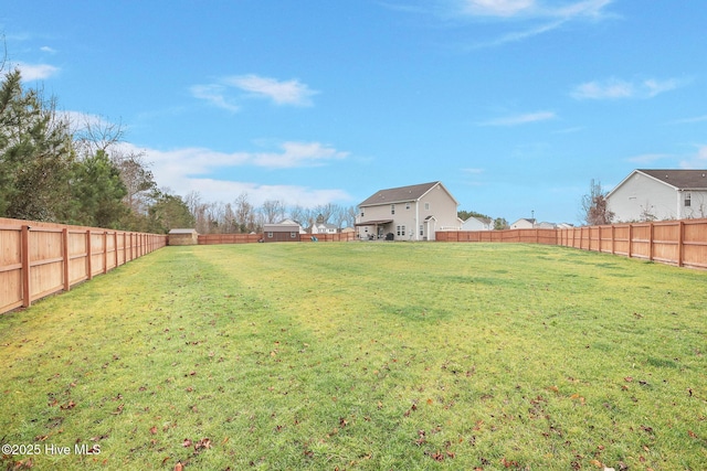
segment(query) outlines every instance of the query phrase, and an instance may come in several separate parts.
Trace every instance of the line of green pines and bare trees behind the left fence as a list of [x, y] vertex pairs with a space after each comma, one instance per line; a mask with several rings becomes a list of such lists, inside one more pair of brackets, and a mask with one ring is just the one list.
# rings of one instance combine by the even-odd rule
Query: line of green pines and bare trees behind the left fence
[[[0, 63], [0, 74], [6, 63]], [[201, 234], [261, 232], [289, 217], [352, 226], [354, 207], [335, 204], [287, 207], [283, 201], [255, 206], [246, 193], [233, 202], [205, 202], [159, 188], [143, 152], [119, 146], [118, 124], [72, 122], [56, 99], [25, 88], [17, 68], [0, 82], [0, 217], [45, 221], [149, 233], [196, 227]]]

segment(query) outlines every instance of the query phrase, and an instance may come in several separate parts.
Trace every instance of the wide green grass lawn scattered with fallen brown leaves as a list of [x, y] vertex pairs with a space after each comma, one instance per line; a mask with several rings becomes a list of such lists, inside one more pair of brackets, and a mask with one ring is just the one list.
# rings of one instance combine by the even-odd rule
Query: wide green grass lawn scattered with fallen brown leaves
[[551, 246], [168, 247], [0, 315], [0, 469], [705, 470], [706, 288]]

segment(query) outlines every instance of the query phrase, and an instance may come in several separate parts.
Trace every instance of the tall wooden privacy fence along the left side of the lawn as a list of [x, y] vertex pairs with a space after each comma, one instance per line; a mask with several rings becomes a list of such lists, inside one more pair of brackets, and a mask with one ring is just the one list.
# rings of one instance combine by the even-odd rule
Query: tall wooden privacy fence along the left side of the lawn
[[167, 245], [167, 236], [0, 218], [0, 313]]

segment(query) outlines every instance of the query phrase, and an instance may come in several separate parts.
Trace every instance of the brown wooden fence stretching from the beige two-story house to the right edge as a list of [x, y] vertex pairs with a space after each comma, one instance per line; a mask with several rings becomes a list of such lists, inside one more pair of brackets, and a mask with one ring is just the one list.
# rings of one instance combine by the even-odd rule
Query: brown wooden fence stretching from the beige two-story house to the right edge
[[562, 229], [439, 232], [436, 239], [439, 242], [550, 244], [642, 258], [678, 267], [707, 268], [707, 220]]

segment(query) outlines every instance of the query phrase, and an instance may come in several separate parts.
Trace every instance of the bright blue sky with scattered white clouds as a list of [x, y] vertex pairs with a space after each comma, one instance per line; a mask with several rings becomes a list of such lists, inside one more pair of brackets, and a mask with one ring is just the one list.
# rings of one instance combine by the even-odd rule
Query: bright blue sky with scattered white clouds
[[592, 179], [707, 168], [707, 2], [0, 0], [8, 58], [160, 186], [579, 222]]

